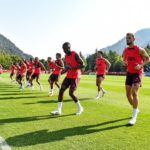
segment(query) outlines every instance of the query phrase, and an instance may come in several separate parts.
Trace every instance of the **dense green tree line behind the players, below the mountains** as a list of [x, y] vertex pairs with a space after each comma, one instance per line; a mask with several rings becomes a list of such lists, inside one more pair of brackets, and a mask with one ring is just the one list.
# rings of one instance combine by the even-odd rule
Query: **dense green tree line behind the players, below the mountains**
[[[147, 45], [145, 50], [150, 55], [150, 45]], [[87, 58], [85, 58], [81, 52], [79, 53], [86, 65], [85, 71], [94, 71], [97, 52], [98, 50], [96, 50], [94, 54], [89, 55]], [[126, 68], [123, 65], [122, 56], [116, 51], [110, 50], [108, 53], [104, 52], [104, 57], [111, 63], [110, 72], [126, 71]], [[19, 62], [21, 59], [22, 58], [20, 56], [5, 53], [2, 49], [0, 49], [0, 64], [2, 64], [4, 69], [9, 69], [12, 62]], [[40, 61], [44, 64], [45, 68], [49, 70], [47, 61], [45, 59], [41, 59]], [[144, 71], [150, 72], [150, 63], [145, 66]]]

